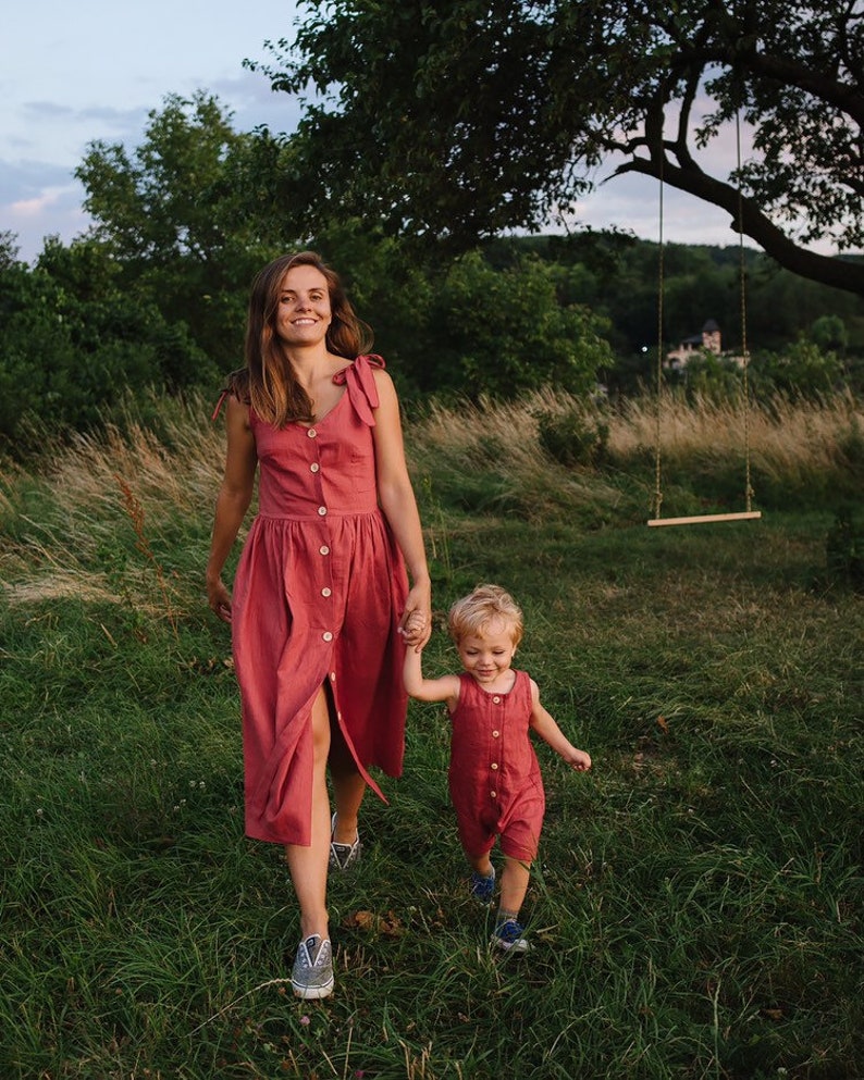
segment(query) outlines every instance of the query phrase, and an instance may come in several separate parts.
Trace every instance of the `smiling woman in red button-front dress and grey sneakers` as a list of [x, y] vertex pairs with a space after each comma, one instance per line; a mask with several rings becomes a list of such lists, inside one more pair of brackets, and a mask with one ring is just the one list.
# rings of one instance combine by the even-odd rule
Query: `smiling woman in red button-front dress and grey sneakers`
[[[332, 993], [328, 866], [359, 856], [366, 786], [383, 798], [370, 766], [402, 772], [404, 644], [422, 647], [431, 633], [398, 400], [383, 360], [365, 355], [370, 345], [337, 275], [313, 252], [282, 257], [252, 285], [246, 368], [223, 395], [227, 455], [207, 593], [232, 624], [246, 832], [285, 845], [299, 902], [300, 997]], [[259, 513], [232, 598], [222, 569], [259, 463]]]

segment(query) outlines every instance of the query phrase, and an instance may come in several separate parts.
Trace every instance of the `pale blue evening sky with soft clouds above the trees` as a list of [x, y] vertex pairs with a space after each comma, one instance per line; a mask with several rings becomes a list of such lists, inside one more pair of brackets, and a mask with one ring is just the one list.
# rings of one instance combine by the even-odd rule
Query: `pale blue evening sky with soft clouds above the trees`
[[[69, 243], [87, 227], [73, 173], [95, 140], [137, 147], [147, 115], [170, 94], [213, 94], [236, 131], [267, 124], [291, 132], [297, 102], [273, 94], [243, 61], [267, 61], [267, 40], [292, 38], [293, 0], [4, 0], [0, 12], [0, 232], [17, 236], [32, 262], [44, 238]], [[731, 133], [712, 147], [716, 165], [735, 162]], [[608, 172], [608, 170], [607, 170]], [[601, 171], [596, 179], [602, 181]], [[644, 177], [601, 184], [577, 221], [661, 238], [658, 190]], [[733, 245], [723, 211], [667, 188], [663, 239]]]

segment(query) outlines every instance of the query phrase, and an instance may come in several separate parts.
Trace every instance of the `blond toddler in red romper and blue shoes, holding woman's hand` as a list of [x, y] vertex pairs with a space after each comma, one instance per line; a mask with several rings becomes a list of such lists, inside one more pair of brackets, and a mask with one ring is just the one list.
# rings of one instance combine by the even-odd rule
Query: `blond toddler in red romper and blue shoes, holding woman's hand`
[[[421, 653], [405, 653], [405, 688], [420, 702], [446, 702], [453, 724], [448, 772], [459, 841], [470, 862], [471, 894], [491, 904], [495, 868], [490, 853], [499, 837], [504, 853], [501, 905], [493, 944], [526, 952], [519, 923], [543, 824], [545, 795], [531, 740], [532, 728], [568, 765], [584, 771], [591, 758], [565, 737], [540, 704], [536, 683], [511, 667], [522, 638], [522, 612], [497, 585], [478, 585], [450, 608], [450, 636], [460, 674], [424, 679]], [[406, 628], [410, 631], [410, 621]]]

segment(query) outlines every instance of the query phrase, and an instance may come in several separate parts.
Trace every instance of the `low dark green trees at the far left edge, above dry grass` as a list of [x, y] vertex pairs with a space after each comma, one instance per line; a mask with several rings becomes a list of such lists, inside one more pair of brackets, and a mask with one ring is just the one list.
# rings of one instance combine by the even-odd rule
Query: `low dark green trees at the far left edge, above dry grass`
[[[42, 430], [99, 426], [123, 389], [181, 389], [212, 362], [185, 324], [168, 325], [151, 302], [120, 284], [103, 245], [66, 248], [49, 237], [30, 269], [2, 258], [0, 243], [0, 445], [25, 456]], [[35, 423], [34, 423], [35, 422]]]

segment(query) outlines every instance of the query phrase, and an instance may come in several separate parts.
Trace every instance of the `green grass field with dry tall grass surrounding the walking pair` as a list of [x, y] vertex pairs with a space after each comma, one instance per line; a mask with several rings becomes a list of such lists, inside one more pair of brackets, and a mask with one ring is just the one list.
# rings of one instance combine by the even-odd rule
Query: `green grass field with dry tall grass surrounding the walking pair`
[[[539, 746], [536, 948], [493, 955], [447, 721], [412, 705], [405, 774], [332, 883], [321, 1003], [286, 985], [280, 852], [243, 836], [202, 592], [221, 430], [197, 401], [149, 418], [0, 477], [2, 1080], [862, 1076], [859, 405], [754, 415], [762, 521], [690, 529], [644, 526], [639, 404], [409, 426], [436, 610], [513, 591], [519, 662], [594, 769]], [[739, 509], [735, 418], [702, 404], [667, 430], [664, 512]], [[427, 669], [453, 662], [439, 625]]]

